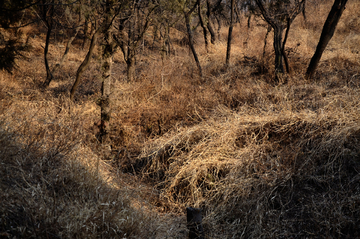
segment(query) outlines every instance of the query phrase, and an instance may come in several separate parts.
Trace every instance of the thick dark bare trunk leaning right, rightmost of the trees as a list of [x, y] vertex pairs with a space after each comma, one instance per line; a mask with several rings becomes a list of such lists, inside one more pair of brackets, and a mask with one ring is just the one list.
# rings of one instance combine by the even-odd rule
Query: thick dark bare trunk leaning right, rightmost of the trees
[[325, 21], [323, 30], [321, 32], [319, 43], [316, 47], [314, 56], [311, 58], [309, 67], [307, 68], [305, 78], [310, 79], [313, 77], [315, 70], [319, 64], [321, 56], [334, 35], [336, 26], [340, 20], [340, 17], [345, 9], [347, 0], [335, 0], [334, 5], [332, 6], [330, 13]]

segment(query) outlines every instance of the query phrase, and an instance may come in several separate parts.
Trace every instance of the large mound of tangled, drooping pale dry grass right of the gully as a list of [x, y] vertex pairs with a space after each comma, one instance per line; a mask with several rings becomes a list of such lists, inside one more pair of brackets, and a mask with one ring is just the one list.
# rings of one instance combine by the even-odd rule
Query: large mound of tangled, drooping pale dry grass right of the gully
[[221, 114], [150, 147], [170, 205], [201, 207], [209, 238], [359, 235], [355, 119]]

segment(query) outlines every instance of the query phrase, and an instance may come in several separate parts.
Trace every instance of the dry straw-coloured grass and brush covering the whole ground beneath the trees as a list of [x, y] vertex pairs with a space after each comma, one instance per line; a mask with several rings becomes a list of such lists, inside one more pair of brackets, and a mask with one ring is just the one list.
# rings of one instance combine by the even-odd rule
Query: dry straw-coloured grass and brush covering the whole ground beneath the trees
[[[273, 79], [273, 48], [260, 18], [206, 53], [173, 30], [175, 55], [141, 49], [134, 82], [114, 56], [110, 145], [97, 141], [100, 63], [69, 89], [85, 57], [74, 42], [47, 90], [44, 33], [0, 73], [1, 238], [186, 238], [187, 206], [206, 238], [360, 237], [360, 5], [349, 1], [313, 80], [303, 75], [331, 3], [292, 25], [293, 74]], [[271, 34], [271, 33], [270, 33]], [[146, 36], [152, 41], [151, 31]], [[61, 57], [50, 45], [50, 62]]]

